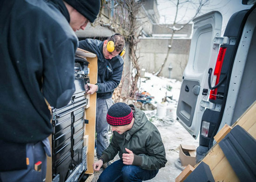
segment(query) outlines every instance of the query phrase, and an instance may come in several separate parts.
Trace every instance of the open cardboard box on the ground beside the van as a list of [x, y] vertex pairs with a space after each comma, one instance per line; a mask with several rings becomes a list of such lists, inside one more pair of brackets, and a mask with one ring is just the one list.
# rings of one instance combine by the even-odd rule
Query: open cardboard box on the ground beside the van
[[182, 163], [182, 166], [195, 166], [195, 155], [196, 155], [196, 148], [194, 145], [186, 145], [180, 144], [180, 152], [179, 157]]

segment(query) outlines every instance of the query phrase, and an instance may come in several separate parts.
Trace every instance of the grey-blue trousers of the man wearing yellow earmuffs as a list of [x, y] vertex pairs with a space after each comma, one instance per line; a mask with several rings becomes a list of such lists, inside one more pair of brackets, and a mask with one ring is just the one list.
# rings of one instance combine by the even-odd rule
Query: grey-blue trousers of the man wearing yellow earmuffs
[[107, 149], [109, 145], [109, 138], [108, 138], [109, 125], [106, 117], [107, 117], [108, 109], [112, 105], [113, 105], [112, 98], [109, 98], [109, 99], [97, 98], [95, 127], [96, 127], [96, 133], [97, 133], [96, 153], [97, 153], [98, 159], [101, 157], [102, 152], [105, 149]]

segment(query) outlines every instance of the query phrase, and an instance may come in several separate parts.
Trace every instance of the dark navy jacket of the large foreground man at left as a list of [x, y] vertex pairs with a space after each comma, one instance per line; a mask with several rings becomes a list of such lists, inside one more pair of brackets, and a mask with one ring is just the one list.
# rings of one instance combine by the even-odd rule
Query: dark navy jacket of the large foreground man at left
[[63, 0], [0, 2], [0, 139], [30, 143], [52, 132], [50, 111], [74, 93], [78, 40]]

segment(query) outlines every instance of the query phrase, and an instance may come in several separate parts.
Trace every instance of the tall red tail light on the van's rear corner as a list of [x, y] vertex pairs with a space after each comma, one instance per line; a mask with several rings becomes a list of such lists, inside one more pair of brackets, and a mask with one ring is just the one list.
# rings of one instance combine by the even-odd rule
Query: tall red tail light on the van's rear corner
[[[217, 57], [216, 66], [215, 66], [215, 70], [214, 70], [214, 74], [213, 74], [213, 84], [214, 85], [217, 85], [219, 83], [221, 70], [222, 70], [222, 64], [223, 64], [223, 60], [224, 60], [224, 57], [226, 54], [226, 50], [227, 50], [226, 47], [221, 47], [219, 50], [219, 54]], [[210, 91], [209, 99], [216, 100], [217, 90], [218, 90], [218, 88], [215, 88]]]

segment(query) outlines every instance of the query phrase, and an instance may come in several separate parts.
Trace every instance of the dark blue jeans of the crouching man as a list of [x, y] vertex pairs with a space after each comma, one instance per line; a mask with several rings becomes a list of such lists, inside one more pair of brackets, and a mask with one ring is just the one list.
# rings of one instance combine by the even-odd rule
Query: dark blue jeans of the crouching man
[[158, 170], [142, 169], [139, 166], [125, 165], [122, 160], [110, 164], [97, 182], [142, 182], [156, 176]]

